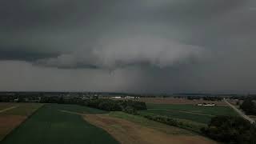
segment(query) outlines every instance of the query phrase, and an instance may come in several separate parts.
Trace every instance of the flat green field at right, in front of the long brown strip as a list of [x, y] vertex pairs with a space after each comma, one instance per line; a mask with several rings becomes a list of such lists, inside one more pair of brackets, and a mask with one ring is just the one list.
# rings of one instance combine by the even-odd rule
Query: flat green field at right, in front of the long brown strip
[[237, 115], [229, 106], [194, 106], [178, 104], [146, 104], [141, 114], [157, 114], [207, 124], [217, 115]]

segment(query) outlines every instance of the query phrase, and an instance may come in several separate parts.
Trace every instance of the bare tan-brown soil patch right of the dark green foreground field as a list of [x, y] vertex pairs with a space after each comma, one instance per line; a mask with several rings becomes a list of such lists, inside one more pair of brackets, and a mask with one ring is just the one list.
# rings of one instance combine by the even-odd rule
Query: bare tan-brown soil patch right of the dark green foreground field
[[113, 118], [104, 114], [86, 114], [87, 122], [106, 130], [122, 144], [211, 144], [216, 143], [202, 136], [171, 135], [161, 131], [140, 126], [121, 118]]

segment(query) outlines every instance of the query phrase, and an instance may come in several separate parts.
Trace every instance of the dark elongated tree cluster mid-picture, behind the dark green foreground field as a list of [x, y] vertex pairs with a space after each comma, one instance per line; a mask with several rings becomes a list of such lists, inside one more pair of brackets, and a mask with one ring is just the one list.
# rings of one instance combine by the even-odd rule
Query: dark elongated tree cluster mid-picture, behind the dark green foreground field
[[145, 102], [137, 102], [131, 100], [115, 101], [111, 99], [90, 99], [86, 100], [84, 105], [106, 111], [124, 111], [130, 114], [136, 114], [137, 110], [146, 110]]

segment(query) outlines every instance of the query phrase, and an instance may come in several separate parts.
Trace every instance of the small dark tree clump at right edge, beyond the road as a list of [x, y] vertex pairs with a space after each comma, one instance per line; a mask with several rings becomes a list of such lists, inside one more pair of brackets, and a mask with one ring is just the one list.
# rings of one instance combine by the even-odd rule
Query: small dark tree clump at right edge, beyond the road
[[253, 101], [253, 98], [246, 98], [240, 108], [244, 110], [246, 114], [256, 115], [256, 103]]

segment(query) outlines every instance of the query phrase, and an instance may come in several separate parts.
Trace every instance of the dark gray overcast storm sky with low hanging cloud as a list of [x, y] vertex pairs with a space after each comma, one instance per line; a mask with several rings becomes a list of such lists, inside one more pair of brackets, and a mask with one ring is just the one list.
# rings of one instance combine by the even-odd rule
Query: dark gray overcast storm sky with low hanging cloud
[[256, 93], [254, 0], [2, 0], [0, 90]]

